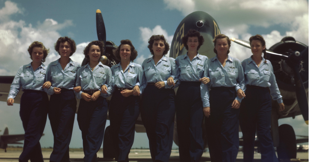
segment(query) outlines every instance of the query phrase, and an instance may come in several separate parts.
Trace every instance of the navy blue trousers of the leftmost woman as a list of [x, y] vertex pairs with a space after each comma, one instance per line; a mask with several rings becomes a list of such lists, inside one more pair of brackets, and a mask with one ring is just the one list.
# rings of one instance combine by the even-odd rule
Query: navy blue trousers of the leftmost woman
[[20, 99], [19, 115], [25, 130], [25, 140], [19, 161], [44, 161], [39, 141], [45, 128], [47, 110], [48, 96], [45, 92], [24, 90]]

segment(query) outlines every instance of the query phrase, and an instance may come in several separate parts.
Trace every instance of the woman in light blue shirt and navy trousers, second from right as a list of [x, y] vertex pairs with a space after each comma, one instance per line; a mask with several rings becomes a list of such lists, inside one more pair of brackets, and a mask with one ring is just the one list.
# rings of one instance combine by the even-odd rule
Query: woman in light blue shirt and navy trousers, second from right
[[[203, 111], [211, 161], [235, 162], [239, 148], [239, 106], [244, 97], [243, 67], [229, 56], [231, 40], [223, 34], [214, 38], [217, 54], [205, 63], [206, 100]], [[211, 90], [208, 92], [208, 88]], [[237, 93], [236, 93], [237, 92]]]

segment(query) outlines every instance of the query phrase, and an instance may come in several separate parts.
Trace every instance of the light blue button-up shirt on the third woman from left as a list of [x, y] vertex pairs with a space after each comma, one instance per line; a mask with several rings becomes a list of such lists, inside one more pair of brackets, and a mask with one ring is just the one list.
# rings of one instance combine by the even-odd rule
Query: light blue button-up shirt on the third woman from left
[[82, 90], [76, 95], [77, 98], [82, 98], [83, 91], [101, 90], [102, 85], [106, 85], [107, 94], [102, 93], [101, 96], [107, 98], [110, 96], [112, 90], [112, 71], [111, 69], [99, 62], [95, 68], [91, 69], [89, 63], [77, 70], [76, 87], [81, 86]]

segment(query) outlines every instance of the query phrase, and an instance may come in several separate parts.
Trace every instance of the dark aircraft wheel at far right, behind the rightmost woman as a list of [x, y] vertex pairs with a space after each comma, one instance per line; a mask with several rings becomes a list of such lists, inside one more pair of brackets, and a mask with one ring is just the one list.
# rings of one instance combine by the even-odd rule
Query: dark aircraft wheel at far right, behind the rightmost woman
[[277, 147], [278, 159], [295, 159], [296, 136], [292, 126], [288, 124], [279, 126], [279, 141]]

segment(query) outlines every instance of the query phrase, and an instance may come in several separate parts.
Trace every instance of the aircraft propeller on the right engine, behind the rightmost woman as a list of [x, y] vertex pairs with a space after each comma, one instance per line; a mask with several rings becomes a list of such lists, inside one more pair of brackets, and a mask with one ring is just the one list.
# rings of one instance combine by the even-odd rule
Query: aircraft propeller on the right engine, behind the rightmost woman
[[[251, 48], [250, 43], [248, 41], [244, 41], [241, 39], [231, 38], [231, 40], [237, 44], [240, 44], [242, 46], [245, 46], [247, 48]], [[286, 55], [274, 53], [272, 51], [266, 50], [266, 52], [270, 55], [273, 55], [275, 57], [278, 57], [282, 60], [285, 60], [288, 66], [293, 70], [294, 72], [294, 83], [295, 83], [295, 92], [296, 92], [296, 98], [298, 102], [298, 106], [300, 111], [302, 112], [303, 118], [308, 125], [308, 98], [306, 94], [306, 89], [303, 84], [302, 78], [300, 76], [300, 65], [301, 60], [304, 60], [307, 58], [308, 60], [308, 47], [305, 48], [302, 52], [298, 51], [292, 51], [291, 49], [289, 52], [286, 52]]]

